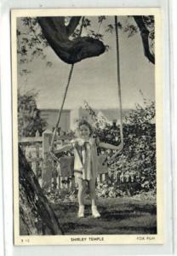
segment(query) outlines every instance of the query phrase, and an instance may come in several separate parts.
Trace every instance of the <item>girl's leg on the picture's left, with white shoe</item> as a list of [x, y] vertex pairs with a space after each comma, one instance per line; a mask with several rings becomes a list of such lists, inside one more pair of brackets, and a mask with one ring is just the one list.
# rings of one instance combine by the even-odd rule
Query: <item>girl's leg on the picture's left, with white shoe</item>
[[84, 204], [83, 204], [83, 195], [85, 192], [85, 187], [86, 187], [86, 182], [82, 178], [77, 178], [77, 183], [78, 183], [78, 217], [82, 218], [84, 217]]

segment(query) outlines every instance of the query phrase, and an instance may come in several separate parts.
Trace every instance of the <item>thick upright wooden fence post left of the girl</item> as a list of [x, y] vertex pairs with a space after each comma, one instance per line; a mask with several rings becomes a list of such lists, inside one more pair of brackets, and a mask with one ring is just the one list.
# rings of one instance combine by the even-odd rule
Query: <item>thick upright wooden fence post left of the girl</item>
[[49, 153], [50, 143], [52, 141], [52, 131], [43, 131], [43, 171], [42, 188], [50, 190], [52, 187], [52, 174], [54, 172], [54, 160]]

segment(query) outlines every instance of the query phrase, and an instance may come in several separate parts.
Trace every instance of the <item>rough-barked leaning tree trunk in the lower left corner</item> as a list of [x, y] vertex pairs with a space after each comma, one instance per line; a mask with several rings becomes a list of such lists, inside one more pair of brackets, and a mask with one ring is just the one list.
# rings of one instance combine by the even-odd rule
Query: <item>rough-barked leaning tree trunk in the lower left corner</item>
[[20, 235], [63, 235], [58, 218], [19, 147]]

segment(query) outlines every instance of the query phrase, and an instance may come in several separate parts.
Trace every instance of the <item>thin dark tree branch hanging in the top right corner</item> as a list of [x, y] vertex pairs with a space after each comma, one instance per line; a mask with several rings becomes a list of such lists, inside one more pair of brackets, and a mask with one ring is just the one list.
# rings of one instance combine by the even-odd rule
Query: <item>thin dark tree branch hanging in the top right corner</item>
[[152, 55], [150, 51], [149, 31], [146, 28], [145, 22], [143, 21], [142, 16], [134, 16], [134, 20], [140, 29], [140, 37], [143, 44], [144, 54], [146, 55], [147, 59], [151, 61], [152, 64], [155, 64], [155, 56]]

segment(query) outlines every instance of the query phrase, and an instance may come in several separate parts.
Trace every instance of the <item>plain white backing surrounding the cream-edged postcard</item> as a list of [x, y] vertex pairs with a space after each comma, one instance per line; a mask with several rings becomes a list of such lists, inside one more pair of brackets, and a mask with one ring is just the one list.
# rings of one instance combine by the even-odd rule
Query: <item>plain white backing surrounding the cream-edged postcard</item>
[[[3, 42], [2, 48], [4, 49], [1, 55], [1, 69], [2, 69], [2, 76], [1, 76], [1, 83], [2, 83], [2, 125], [3, 125], [3, 183], [4, 186], [4, 201], [5, 203], [5, 233], [6, 233], [6, 255], [38, 255], [39, 253], [43, 253], [43, 255], [49, 255], [49, 253], [53, 253], [53, 255], [58, 255], [62, 253], [64, 255], [68, 255], [68, 253], [76, 253], [77, 254], [84, 254], [88, 255], [91, 252], [93, 253], [100, 253], [100, 247], [85, 247], [84, 251], [83, 247], [13, 247], [13, 240], [12, 240], [12, 158], [11, 158], [11, 148], [12, 148], [12, 137], [11, 137], [11, 102], [10, 102], [10, 94], [11, 94], [11, 84], [10, 84], [10, 49], [9, 49], [9, 9], [11, 8], [38, 8], [38, 7], [45, 7], [45, 8], [54, 8], [54, 7], [62, 7], [62, 8], [73, 8], [73, 7], [162, 7], [164, 12], [164, 64], [165, 65], [165, 73], [164, 73], [164, 81], [166, 82], [165, 88], [165, 112], [164, 112], [164, 119], [166, 120], [165, 126], [165, 142], [164, 142], [164, 155], [166, 163], [165, 163], [165, 170], [171, 170], [171, 151], [170, 151], [170, 129], [167, 127], [167, 123], [170, 123], [169, 120], [169, 73], [168, 73], [168, 1], [156, 1], [156, 0], [146, 0], [143, 1], [65, 1], [65, 3], [60, 3], [60, 1], [2, 1], [2, 28], [1, 35], [3, 35]], [[169, 152], [169, 153], [168, 153]], [[166, 179], [167, 178], [167, 179]], [[167, 183], [165, 193], [166, 199], [165, 204], [168, 205], [168, 211], [166, 212], [166, 221], [165, 221], [165, 229], [167, 230], [167, 237], [166, 242], [163, 246], [101, 246], [101, 253], [102, 255], [111, 255], [111, 254], [134, 254], [140, 252], [140, 254], [159, 254], [164, 253], [168, 254], [171, 253], [172, 248], [172, 221], [170, 220], [172, 216], [171, 209], [171, 180], [165, 175], [164, 179]], [[75, 250], [73, 251], [73, 248]]]

